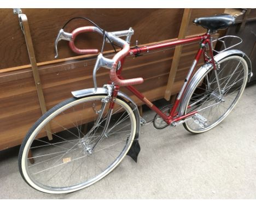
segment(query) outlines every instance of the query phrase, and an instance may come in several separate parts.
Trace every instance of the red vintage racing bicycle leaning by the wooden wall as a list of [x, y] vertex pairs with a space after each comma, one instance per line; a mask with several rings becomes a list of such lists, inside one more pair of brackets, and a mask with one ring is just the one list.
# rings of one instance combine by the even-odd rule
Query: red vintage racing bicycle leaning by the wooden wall
[[[60, 40], [69, 41], [69, 46], [76, 53], [96, 54], [98, 50], [77, 48], [75, 37], [85, 32], [103, 35], [102, 50], [93, 71], [94, 88], [72, 91], [71, 99], [51, 108], [28, 131], [19, 152], [19, 170], [28, 185], [45, 193], [73, 192], [112, 172], [125, 155], [137, 161], [139, 129], [145, 121], [139, 116], [136, 103], [119, 90], [122, 86], [156, 112], [153, 120], [156, 129], [183, 124], [191, 133], [202, 133], [223, 121], [235, 107], [252, 76], [251, 61], [242, 51], [230, 50], [234, 46], [213, 55], [213, 41], [217, 40], [213, 40], [212, 34], [232, 25], [235, 22], [233, 16], [220, 14], [200, 17], [193, 22], [206, 28], [207, 33], [132, 48], [132, 28], [107, 32], [92, 22], [95, 26], [80, 27], [67, 33], [63, 30], [66, 23], [55, 41], [56, 57]], [[103, 56], [106, 42], [113, 47], [121, 47], [112, 59]], [[124, 79], [121, 76], [128, 56], [194, 42], [199, 42], [200, 48], [173, 106], [159, 109], [132, 86], [141, 84], [143, 78]], [[195, 72], [201, 56], [205, 63]], [[100, 68], [110, 70], [111, 80], [101, 88], [97, 87], [96, 81]], [[47, 139], [49, 130], [46, 126], [50, 126], [53, 140]]]

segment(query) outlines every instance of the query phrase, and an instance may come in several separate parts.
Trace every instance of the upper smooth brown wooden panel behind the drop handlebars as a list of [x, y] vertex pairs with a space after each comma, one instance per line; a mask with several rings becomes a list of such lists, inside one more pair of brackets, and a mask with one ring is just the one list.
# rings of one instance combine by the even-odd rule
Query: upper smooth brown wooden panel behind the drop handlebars
[[[26, 65], [29, 59], [23, 34], [19, 27], [18, 17], [12, 9], [0, 9], [1, 48], [4, 54], [0, 69]], [[183, 9], [22, 9], [30, 24], [31, 36], [37, 62], [54, 60], [54, 41], [57, 33], [66, 21], [72, 17], [84, 16], [94, 21], [107, 31], [124, 30], [133, 27], [135, 35], [132, 43], [139, 44], [176, 38]], [[161, 24], [159, 23], [161, 22]], [[71, 32], [74, 28], [90, 25], [84, 20], [74, 20], [65, 28]], [[86, 40], [86, 41], [85, 41]], [[81, 34], [77, 45], [81, 48], [101, 48], [102, 36]], [[60, 58], [74, 57], [66, 41], [59, 43]], [[106, 50], [113, 48], [107, 44]]]

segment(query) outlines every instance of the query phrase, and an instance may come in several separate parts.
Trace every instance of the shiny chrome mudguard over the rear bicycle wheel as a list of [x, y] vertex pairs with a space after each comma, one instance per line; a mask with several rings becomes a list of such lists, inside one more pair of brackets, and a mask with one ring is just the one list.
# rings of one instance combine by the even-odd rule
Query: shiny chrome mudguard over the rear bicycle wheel
[[[243, 58], [245, 58], [247, 65], [248, 65], [248, 79], [247, 82], [250, 81], [251, 77], [253, 76], [252, 73], [252, 63], [251, 60], [248, 58], [248, 56], [243, 53], [242, 51], [239, 50], [229, 50], [229, 51], [224, 51], [222, 53], [217, 54], [216, 56], [214, 56], [214, 60], [216, 62], [219, 62], [220, 60], [229, 57], [231, 55], [237, 55], [237, 56], [241, 56]], [[187, 90], [184, 93], [184, 96], [181, 100], [181, 106], [179, 106], [179, 115], [183, 115], [185, 112], [185, 107], [186, 104], [188, 102], [189, 99], [189, 95], [192, 93], [192, 90], [194, 89], [195, 85], [197, 84], [197, 82], [202, 78], [202, 76], [204, 76], [206, 74], [206, 72], [208, 70], [210, 70], [212, 68], [212, 64], [205, 64], [203, 66], [201, 66], [201, 68], [199, 68], [199, 70], [196, 71], [195, 75], [192, 77]]]

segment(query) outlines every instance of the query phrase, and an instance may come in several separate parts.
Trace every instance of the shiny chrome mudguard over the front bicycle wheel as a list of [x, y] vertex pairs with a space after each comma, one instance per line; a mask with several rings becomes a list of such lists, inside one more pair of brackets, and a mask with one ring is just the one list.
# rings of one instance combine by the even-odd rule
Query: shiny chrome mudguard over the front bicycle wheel
[[[108, 89], [103, 87], [103, 88], [97, 88], [97, 90], [95, 91], [95, 88], [89, 88], [89, 89], [72, 91], [71, 93], [74, 97], [77, 97], [77, 98], [86, 97], [86, 96], [90, 96], [90, 95], [108, 95]], [[138, 107], [137, 107], [136, 103], [122, 91], [118, 91], [118, 96], [125, 100], [130, 101], [131, 107], [135, 114], [136, 123], [137, 123], [135, 139], [138, 139], [140, 127], [141, 127]]]

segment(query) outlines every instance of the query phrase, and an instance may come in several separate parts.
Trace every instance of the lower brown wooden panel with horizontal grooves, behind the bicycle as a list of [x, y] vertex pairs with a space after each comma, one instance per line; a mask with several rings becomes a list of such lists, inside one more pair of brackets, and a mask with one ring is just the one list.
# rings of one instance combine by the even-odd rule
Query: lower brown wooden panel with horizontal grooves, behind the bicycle
[[[189, 65], [189, 59], [195, 53], [196, 48], [197, 44], [194, 44], [193, 47], [190, 45], [183, 48], [183, 66]], [[124, 76], [127, 78], [143, 76], [145, 82], [135, 87], [147, 96], [150, 101], [161, 99], [164, 96], [172, 54], [173, 50], [168, 50], [137, 58], [131, 57], [125, 62]], [[90, 62], [91, 60], [86, 61]], [[93, 63], [93, 61], [91, 62]], [[142, 62], [144, 64], [141, 64]], [[73, 67], [71, 67], [72, 65]], [[67, 66], [68, 68], [66, 68]], [[189, 66], [178, 69], [177, 75], [180, 79], [186, 74], [188, 68]], [[71, 97], [72, 90], [93, 87], [93, 64], [84, 66], [84, 60], [75, 60], [72, 64], [39, 66], [38, 69], [47, 108], [51, 108]], [[0, 149], [20, 144], [28, 129], [41, 115], [32, 72], [26, 73], [29, 76], [20, 76], [18, 77], [19, 79], [0, 83]], [[8, 76], [12, 77], [14, 75]], [[108, 70], [101, 69], [98, 71], [97, 81], [99, 86], [106, 83], [108, 79]], [[175, 83], [173, 93], [177, 93], [181, 87], [180, 83], [182, 82], [177, 81]], [[152, 85], [155, 86], [155, 89], [150, 87]], [[130, 91], [127, 91], [125, 88], [121, 88], [121, 90], [131, 95], [138, 105], [143, 104]]]

